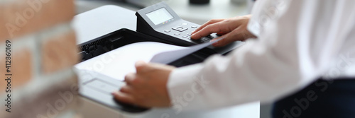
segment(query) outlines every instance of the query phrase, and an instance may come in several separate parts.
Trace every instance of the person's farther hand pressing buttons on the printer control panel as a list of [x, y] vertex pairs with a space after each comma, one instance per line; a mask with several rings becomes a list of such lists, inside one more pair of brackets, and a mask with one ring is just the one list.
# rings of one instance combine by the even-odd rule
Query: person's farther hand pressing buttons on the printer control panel
[[197, 28], [197, 30], [192, 33], [191, 38], [200, 39], [201, 37], [207, 36], [211, 33], [217, 33], [217, 35], [223, 35], [222, 37], [224, 37], [224, 39], [219, 42], [215, 42], [213, 46], [222, 47], [234, 41], [243, 41], [250, 37], [255, 37], [247, 30], [250, 18], [251, 15], [209, 20], [200, 28]]

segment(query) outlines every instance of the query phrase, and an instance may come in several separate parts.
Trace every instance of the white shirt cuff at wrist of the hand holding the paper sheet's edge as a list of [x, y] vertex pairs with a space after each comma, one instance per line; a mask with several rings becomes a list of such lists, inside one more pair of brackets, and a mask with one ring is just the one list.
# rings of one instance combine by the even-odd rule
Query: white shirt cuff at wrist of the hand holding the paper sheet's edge
[[175, 69], [170, 73], [168, 93], [175, 112], [200, 110], [203, 101], [199, 93], [205, 87], [201, 78], [203, 65], [195, 64]]

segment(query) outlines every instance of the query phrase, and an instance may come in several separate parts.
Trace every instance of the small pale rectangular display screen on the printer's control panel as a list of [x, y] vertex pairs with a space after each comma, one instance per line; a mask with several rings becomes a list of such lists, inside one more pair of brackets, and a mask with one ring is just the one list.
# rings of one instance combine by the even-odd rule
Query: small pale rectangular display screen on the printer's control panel
[[146, 13], [146, 16], [148, 16], [148, 18], [151, 19], [155, 25], [160, 23], [168, 23], [168, 20], [174, 18], [165, 8], [160, 8], [151, 13]]

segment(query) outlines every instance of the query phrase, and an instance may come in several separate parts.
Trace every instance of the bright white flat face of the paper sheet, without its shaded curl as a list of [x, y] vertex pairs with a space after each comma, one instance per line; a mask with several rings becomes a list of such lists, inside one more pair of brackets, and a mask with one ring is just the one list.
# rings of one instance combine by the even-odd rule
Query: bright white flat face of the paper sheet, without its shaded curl
[[148, 62], [160, 52], [185, 48], [187, 47], [159, 42], [137, 42], [76, 64], [75, 69], [80, 70], [78, 73], [80, 77], [89, 76], [90, 71], [95, 71], [123, 81], [127, 73], [136, 71], [134, 68], [136, 61]]

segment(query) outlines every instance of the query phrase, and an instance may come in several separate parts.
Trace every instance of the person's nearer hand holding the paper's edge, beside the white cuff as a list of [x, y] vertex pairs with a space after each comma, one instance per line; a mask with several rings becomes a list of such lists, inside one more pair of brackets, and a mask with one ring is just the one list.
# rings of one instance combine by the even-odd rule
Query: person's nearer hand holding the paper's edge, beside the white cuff
[[136, 73], [127, 74], [126, 85], [112, 94], [116, 100], [141, 107], [170, 107], [167, 83], [173, 69], [173, 66], [138, 61]]

